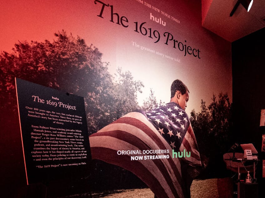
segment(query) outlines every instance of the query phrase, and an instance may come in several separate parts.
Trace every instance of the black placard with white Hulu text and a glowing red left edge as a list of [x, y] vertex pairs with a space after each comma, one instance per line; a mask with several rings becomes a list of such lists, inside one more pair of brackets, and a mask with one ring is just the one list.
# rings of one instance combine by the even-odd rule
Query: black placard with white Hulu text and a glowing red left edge
[[27, 183], [86, 169], [90, 146], [83, 97], [16, 78]]

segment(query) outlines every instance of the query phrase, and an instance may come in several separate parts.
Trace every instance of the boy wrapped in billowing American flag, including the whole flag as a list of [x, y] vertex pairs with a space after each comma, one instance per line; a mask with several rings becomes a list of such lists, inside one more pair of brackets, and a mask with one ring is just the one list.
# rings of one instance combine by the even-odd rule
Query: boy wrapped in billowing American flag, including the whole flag
[[175, 80], [169, 103], [146, 113], [128, 113], [90, 135], [92, 159], [133, 172], [155, 197], [190, 197], [202, 163], [185, 112], [188, 99], [186, 85]]

